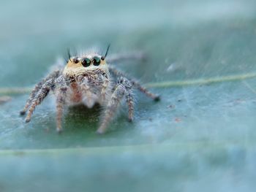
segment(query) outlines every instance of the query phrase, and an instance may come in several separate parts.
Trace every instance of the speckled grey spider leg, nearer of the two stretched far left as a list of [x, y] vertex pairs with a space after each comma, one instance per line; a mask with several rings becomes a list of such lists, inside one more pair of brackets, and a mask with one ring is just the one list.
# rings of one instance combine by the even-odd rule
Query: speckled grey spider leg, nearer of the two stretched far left
[[54, 79], [50, 79], [42, 85], [42, 88], [39, 91], [37, 91], [37, 95], [34, 96], [33, 101], [31, 101], [29, 113], [26, 116], [26, 123], [28, 123], [31, 120], [31, 115], [34, 112], [35, 107], [37, 107], [37, 105], [42, 103], [42, 100], [45, 99], [45, 97], [48, 95], [53, 85], [54, 85]]

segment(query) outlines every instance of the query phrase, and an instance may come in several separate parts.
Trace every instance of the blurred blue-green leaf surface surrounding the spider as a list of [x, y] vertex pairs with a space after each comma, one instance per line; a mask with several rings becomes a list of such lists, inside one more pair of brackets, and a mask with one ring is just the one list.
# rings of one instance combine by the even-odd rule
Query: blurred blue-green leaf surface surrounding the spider
[[[253, 191], [255, 5], [2, 0], [0, 96], [12, 100], [0, 105], [0, 191]], [[67, 110], [57, 135], [50, 97], [24, 123], [18, 112], [29, 93], [3, 88], [33, 86], [68, 47], [104, 51], [109, 43], [109, 54], [148, 55], [116, 66], [162, 101], [135, 92], [134, 123], [122, 107], [100, 137], [99, 107]], [[213, 77], [219, 82], [184, 85]]]

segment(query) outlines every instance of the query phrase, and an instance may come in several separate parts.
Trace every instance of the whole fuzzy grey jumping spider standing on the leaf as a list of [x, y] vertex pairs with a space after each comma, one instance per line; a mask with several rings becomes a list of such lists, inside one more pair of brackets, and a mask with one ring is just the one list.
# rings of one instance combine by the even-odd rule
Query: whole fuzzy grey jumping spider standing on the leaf
[[150, 93], [138, 81], [107, 64], [107, 61], [111, 63], [124, 59], [142, 58], [142, 55], [135, 53], [106, 58], [108, 49], [103, 56], [97, 53], [88, 53], [72, 57], [69, 53], [66, 66], [50, 72], [31, 91], [26, 106], [20, 112], [20, 115], [25, 115], [28, 110], [26, 123], [31, 120], [35, 107], [42, 103], [50, 91], [53, 91], [56, 96], [56, 129], [58, 132], [62, 131], [61, 118], [65, 105], [84, 104], [91, 108], [98, 103], [104, 106], [105, 111], [97, 129], [97, 133], [103, 134], [113, 119], [122, 99], [127, 102], [128, 118], [129, 121], [132, 121], [134, 113], [132, 88], [138, 88], [146, 96], [158, 101], [159, 96]]

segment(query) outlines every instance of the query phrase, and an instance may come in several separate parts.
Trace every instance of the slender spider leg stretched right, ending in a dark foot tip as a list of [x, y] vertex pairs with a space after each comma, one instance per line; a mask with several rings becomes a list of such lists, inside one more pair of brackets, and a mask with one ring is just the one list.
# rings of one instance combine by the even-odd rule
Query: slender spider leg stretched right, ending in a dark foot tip
[[146, 94], [146, 96], [150, 97], [151, 99], [154, 99], [154, 101], [159, 101], [160, 100], [160, 96], [151, 93], [150, 91], [148, 91], [145, 87], [143, 87], [143, 85], [140, 85], [140, 83], [133, 79], [133, 78], [129, 78], [127, 74], [125, 74], [124, 72], [121, 72], [115, 68], [113, 68], [113, 66], [109, 66], [109, 70], [110, 72], [113, 72], [113, 74], [115, 74], [117, 77], [127, 77], [128, 80], [130, 80], [130, 82], [132, 82], [132, 85], [134, 85], [136, 88], [138, 88], [138, 90], [144, 94]]

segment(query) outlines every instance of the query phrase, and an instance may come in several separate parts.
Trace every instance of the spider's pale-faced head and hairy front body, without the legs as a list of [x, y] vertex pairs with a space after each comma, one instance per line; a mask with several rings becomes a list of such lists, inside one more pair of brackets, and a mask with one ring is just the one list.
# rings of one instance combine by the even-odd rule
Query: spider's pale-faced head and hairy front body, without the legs
[[111, 91], [105, 58], [96, 54], [70, 58], [62, 75], [69, 86], [68, 104], [83, 103], [89, 108], [95, 103], [105, 104]]

